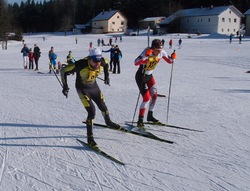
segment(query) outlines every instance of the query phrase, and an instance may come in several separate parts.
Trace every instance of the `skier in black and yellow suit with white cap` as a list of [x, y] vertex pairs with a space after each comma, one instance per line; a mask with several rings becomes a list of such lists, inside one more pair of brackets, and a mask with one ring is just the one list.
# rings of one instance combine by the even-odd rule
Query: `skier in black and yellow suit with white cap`
[[95, 118], [95, 106], [101, 110], [105, 123], [112, 128], [119, 128], [110, 120], [109, 111], [104, 101], [104, 96], [97, 85], [96, 78], [104, 69], [104, 83], [109, 85], [108, 62], [102, 57], [100, 49], [93, 48], [89, 52], [89, 56], [84, 59], [78, 60], [73, 64], [65, 65], [61, 70], [61, 80], [63, 83], [63, 94], [68, 95], [67, 75], [76, 73], [76, 91], [79, 98], [88, 112], [87, 124], [87, 141], [91, 146], [97, 146], [93, 138], [93, 120]]

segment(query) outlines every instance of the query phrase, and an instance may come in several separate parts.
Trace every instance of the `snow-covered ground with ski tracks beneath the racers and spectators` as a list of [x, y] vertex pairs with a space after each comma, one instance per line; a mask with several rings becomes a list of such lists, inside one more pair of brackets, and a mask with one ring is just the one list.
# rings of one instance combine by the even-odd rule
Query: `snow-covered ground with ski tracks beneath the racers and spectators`
[[[46, 36], [46, 41], [42, 37]], [[53, 74], [23, 70], [22, 42], [0, 51], [0, 190], [1, 191], [248, 191], [250, 190], [250, 39], [188, 35], [164, 38], [165, 50], [176, 49], [169, 123], [203, 130], [146, 127], [174, 141], [162, 143], [119, 131], [94, 128], [100, 148], [126, 165], [116, 164], [78, 144], [86, 140], [86, 111], [68, 77], [66, 99]], [[28, 47], [42, 50], [41, 72], [48, 72], [48, 51], [58, 61], [69, 50], [76, 59], [105, 35], [37, 34], [24, 37]], [[170, 38], [173, 49], [168, 48]], [[177, 46], [183, 40], [181, 49]], [[113, 39], [114, 40], [114, 39]], [[125, 36], [121, 74], [110, 74], [111, 86], [98, 80], [113, 121], [131, 121], [138, 89], [134, 59], [147, 46], [146, 36]], [[107, 50], [109, 47], [101, 47]], [[109, 53], [104, 53], [109, 58]], [[171, 65], [161, 61], [154, 76], [160, 94], [168, 95]], [[102, 76], [101, 76], [102, 77]], [[167, 118], [167, 98], [158, 98], [155, 117]], [[140, 100], [141, 102], [141, 100]], [[137, 109], [138, 110], [138, 109]], [[137, 113], [136, 111], [136, 120]], [[96, 122], [103, 123], [97, 109]]]

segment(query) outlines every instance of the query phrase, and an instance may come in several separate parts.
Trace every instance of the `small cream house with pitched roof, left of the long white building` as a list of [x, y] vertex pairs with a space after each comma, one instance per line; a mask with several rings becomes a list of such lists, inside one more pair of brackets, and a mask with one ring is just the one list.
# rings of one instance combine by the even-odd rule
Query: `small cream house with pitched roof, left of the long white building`
[[127, 19], [118, 10], [103, 11], [91, 22], [93, 34], [125, 32], [127, 29]]

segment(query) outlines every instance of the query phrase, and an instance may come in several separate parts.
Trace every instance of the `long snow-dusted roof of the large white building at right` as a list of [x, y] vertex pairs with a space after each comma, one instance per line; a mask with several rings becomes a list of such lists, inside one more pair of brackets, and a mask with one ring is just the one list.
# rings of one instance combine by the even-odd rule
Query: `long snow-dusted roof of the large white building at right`
[[209, 16], [209, 15], [220, 15], [224, 11], [231, 9], [235, 12], [239, 17], [244, 17], [244, 15], [233, 5], [229, 6], [219, 6], [219, 7], [206, 7], [206, 8], [194, 8], [194, 9], [182, 9], [171, 16], [167, 17], [164, 21], [159, 23], [162, 24], [169, 24], [177, 18], [180, 17], [195, 17], [195, 16]]

